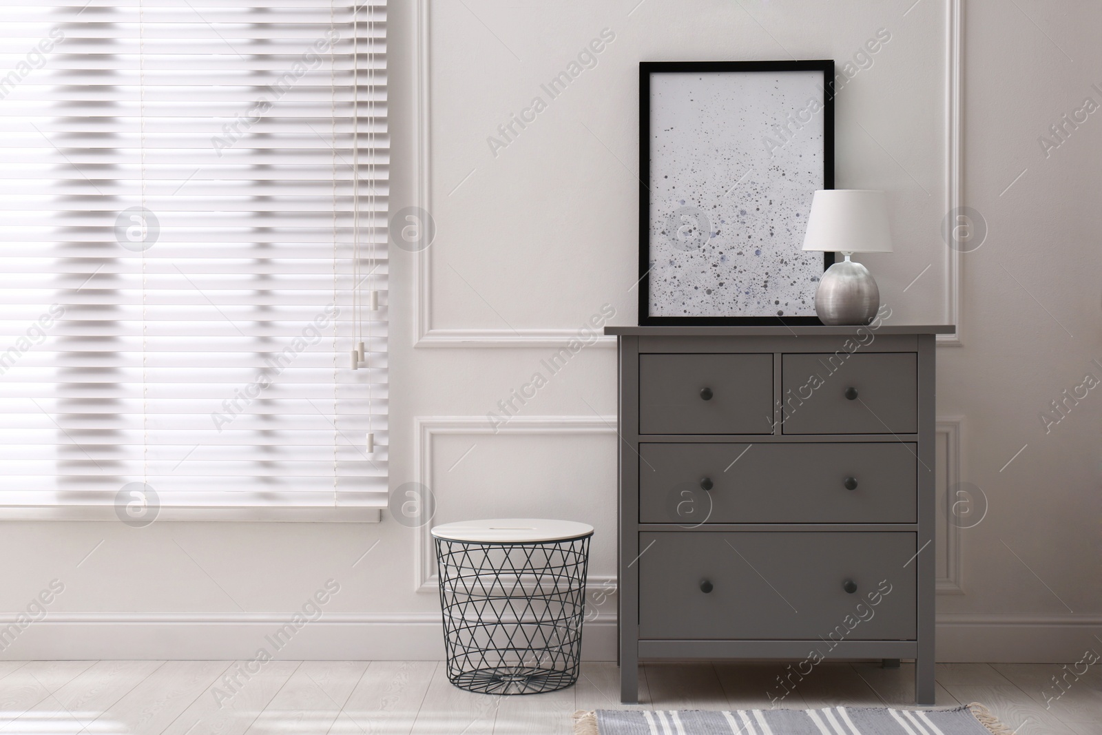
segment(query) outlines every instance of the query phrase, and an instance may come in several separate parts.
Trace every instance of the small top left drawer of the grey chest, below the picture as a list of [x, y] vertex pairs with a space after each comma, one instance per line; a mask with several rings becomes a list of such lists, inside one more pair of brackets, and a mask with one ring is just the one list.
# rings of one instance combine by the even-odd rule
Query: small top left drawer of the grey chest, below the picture
[[640, 355], [639, 433], [771, 434], [773, 355]]

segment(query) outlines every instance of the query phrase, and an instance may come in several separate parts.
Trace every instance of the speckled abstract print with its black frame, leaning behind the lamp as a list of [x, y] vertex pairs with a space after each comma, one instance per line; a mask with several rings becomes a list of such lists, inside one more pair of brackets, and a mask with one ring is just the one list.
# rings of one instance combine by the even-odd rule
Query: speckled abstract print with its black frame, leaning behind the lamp
[[834, 62], [639, 64], [639, 324], [820, 324]]

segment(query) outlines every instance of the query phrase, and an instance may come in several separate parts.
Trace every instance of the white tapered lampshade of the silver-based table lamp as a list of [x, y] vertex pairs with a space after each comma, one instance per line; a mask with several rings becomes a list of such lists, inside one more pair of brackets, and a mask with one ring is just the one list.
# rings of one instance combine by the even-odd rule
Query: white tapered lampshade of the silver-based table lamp
[[829, 188], [815, 192], [808, 215], [804, 250], [892, 252], [884, 192]]

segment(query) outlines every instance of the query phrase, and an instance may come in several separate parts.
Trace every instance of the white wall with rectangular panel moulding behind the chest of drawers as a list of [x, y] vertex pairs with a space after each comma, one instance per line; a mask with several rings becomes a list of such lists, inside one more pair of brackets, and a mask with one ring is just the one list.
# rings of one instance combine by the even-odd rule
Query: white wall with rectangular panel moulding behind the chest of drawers
[[[944, 322], [959, 289], [962, 345], [938, 355], [939, 482], [973, 483], [990, 501], [979, 526], [943, 523], [938, 539], [939, 657], [1062, 661], [1102, 645], [1102, 397], [1091, 391], [1047, 434], [1038, 418], [1102, 361], [1102, 117], [1047, 159], [1037, 142], [1084, 97], [1102, 102], [1090, 88], [1102, 87], [1102, 8], [961, 0], [954, 169], [949, 0], [636, 2], [392, 0], [391, 209], [423, 206], [437, 227], [428, 251], [391, 259], [392, 486], [428, 479], [437, 522], [588, 521], [592, 573], [611, 585], [615, 350], [586, 347], [554, 376], [540, 360], [603, 304], [615, 323], [636, 317], [637, 62], [791, 52], [841, 67], [883, 28], [892, 40], [838, 97], [836, 184], [889, 192], [897, 251], [866, 262], [894, 320]], [[615, 41], [596, 67], [548, 100], [540, 84], [606, 28]], [[487, 137], [534, 95], [547, 109], [495, 156]], [[954, 171], [990, 228], [955, 272], [939, 234]], [[486, 413], [537, 370], [547, 387], [493, 433]], [[322, 621], [282, 656], [435, 658], [424, 536], [390, 518], [3, 523], [0, 610], [17, 614], [55, 577], [65, 591], [0, 657], [249, 657], [332, 577], [342, 587]], [[613, 655], [614, 603], [587, 627], [593, 657]]]

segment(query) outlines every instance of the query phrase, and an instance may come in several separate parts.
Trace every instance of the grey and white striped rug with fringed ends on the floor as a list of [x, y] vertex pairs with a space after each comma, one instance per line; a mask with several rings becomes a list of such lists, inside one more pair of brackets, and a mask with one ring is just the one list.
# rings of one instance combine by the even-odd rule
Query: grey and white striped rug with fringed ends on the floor
[[574, 714], [575, 735], [1012, 735], [987, 707], [955, 710], [597, 710]]

